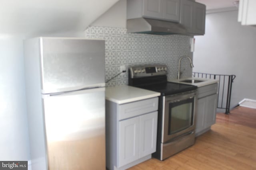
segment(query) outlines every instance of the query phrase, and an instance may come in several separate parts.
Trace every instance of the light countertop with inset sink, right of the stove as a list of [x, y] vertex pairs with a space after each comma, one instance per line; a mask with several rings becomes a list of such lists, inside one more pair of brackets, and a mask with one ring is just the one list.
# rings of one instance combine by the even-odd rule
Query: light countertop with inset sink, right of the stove
[[[202, 80], [202, 82], [187, 83], [187, 82], [181, 82], [182, 80]], [[189, 84], [189, 85], [194, 85], [194, 86], [197, 86], [197, 87], [202, 87], [202, 86], [207, 86], [207, 85], [210, 85], [210, 84], [218, 83], [219, 80], [190, 77], [190, 78], [181, 78], [180, 80], [172, 79], [172, 80], [168, 80], [168, 82], [181, 83], [181, 84]]]

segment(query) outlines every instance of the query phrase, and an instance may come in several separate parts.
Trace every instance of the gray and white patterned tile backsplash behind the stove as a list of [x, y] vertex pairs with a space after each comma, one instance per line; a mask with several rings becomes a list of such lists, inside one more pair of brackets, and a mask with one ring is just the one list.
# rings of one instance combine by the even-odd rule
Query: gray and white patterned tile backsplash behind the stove
[[[107, 86], [128, 84], [128, 68], [141, 64], [166, 64], [168, 78], [177, 78], [178, 61], [181, 56], [190, 54], [190, 36], [186, 35], [149, 35], [126, 33], [124, 28], [90, 26], [85, 31], [86, 38], [105, 40], [106, 80], [122, 73]], [[191, 76], [192, 68], [183, 59], [180, 68], [182, 76]]]

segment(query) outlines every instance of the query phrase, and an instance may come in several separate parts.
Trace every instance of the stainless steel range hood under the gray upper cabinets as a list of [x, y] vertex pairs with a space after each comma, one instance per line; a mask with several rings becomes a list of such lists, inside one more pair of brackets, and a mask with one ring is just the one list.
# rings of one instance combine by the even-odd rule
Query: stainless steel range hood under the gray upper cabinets
[[126, 21], [126, 27], [128, 33], [157, 35], [187, 34], [186, 28], [180, 23], [149, 18], [128, 19]]

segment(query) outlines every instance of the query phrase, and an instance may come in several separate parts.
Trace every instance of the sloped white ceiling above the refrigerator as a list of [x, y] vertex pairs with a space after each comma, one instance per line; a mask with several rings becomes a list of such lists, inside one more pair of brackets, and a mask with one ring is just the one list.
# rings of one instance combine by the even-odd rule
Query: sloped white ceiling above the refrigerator
[[0, 0], [3, 35], [83, 32], [118, 0]]

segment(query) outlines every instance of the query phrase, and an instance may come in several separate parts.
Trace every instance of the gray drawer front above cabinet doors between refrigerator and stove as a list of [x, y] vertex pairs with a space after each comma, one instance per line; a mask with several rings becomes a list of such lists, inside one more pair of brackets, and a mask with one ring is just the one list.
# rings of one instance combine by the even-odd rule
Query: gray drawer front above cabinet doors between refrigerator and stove
[[119, 105], [119, 119], [127, 119], [158, 110], [158, 98], [151, 98]]

